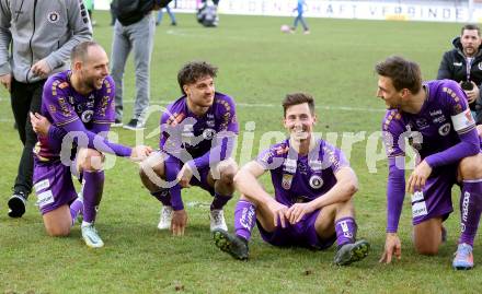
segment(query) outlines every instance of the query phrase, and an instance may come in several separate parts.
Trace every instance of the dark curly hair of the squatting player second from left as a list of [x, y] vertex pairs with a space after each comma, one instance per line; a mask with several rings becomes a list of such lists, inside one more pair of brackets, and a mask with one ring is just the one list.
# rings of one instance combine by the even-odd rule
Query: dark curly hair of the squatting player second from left
[[181, 92], [186, 94], [183, 89], [184, 85], [194, 84], [205, 77], [216, 78], [217, 72], [218, 68], [206, 61], [191, 61], [184, 64], [177, 73]]

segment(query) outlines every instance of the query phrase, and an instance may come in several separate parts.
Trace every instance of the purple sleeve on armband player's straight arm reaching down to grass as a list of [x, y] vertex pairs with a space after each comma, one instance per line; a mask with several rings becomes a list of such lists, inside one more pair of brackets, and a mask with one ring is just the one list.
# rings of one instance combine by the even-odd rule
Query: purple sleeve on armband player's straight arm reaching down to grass
[[[403, 156], [397, 157], [403, 158]], [[405, 198], [405, 170], [397, 167], [395, 157], [388, 158], [387, 233], [397, 233], [403, 199]]]

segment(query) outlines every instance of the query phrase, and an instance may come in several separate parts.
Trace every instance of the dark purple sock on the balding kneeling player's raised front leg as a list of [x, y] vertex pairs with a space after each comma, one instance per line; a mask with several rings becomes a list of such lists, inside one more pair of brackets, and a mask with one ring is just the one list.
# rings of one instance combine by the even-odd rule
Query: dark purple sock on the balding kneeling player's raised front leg
[[104, 170], [83, 172], [83, 222], [93, 223], [104, 190]]

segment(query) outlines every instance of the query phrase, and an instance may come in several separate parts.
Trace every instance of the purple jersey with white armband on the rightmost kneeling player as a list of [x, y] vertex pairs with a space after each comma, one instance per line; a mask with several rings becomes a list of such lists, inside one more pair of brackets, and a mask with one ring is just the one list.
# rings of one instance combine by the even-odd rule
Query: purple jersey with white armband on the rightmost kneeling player
[[423, 160], [456, 145], [460, 142], [459, 134], [475, 128], [466, 94], [456, 82], [429, 81], [423, 86], [427, 98], [418, 114], [387, 110], [382, 130], [389, 157], [405, 154], [404, 138]]

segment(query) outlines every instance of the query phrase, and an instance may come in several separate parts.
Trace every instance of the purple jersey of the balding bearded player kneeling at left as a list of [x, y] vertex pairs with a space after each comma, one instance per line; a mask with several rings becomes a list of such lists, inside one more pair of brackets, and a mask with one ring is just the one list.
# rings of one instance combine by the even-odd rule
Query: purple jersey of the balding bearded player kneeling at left
[[[100, 90], [89, 95], [79, 94], [71, 85], [71, 71], [51, 75], [44, 85], [42, 115], [54, 126], [62, 126], [80, 119], [85, 129], [95, 130], [95, 125], [110, 126], [114, 122], [114, 81], [105, 78]], [[103, 130], [108, 127], [103, 127]], [[61, 140], [38, 136], [34, 153], [39, 161], [51, 161], [59, 157]]]

